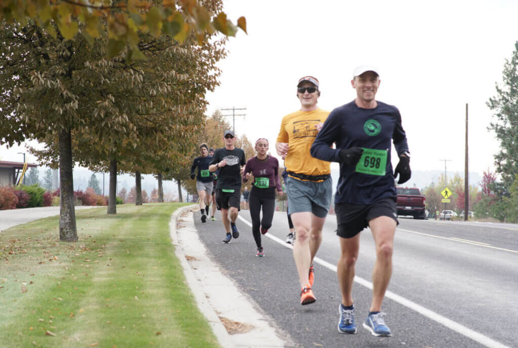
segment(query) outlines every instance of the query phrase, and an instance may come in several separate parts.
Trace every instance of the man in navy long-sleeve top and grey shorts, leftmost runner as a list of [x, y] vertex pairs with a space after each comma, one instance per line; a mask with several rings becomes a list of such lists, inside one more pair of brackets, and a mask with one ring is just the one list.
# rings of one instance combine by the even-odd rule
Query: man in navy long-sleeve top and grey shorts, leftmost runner
[[[196, 178], [196, 190], [199, 195], [199, 210], [202, 213], [202, 222], [207, 220], [207, 215], [209, 214], [209, 206], [211, 201], [212, 194], [212, 176], [209, 172], [209, 163], [212, 157], [209, 157], [209, 147], [207, 144], [202, 144], [199, 146], [200, 153], [202, 156], [197, 157], [193, 161], [193, 165], [191, 166], [191, 179]], [[194, 174], [194, 170], [198, 167], [198, 175]], [[207, 213], [207, 215], [205, 214]]]

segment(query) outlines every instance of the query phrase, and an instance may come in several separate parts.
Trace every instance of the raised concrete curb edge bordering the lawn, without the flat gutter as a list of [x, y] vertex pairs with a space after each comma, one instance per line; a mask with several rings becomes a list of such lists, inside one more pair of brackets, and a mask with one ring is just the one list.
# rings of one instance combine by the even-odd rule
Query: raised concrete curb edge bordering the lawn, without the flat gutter
[[191, 289], [191, 292], [193, 293], [196, 304], [200, 310], [200, 312], [203, 313], [203, 315], [207, 318], [207, 321], [209, 322], [210, 327], [212, 328], [212, 332], [214, 332], [214, 335], [220, 342], [221, 346], [225, 348], [237, 348], [234, 344], [234, 341], [228, 335], [227, 330], [225, 329], [225, 326], [220, 321], [218, 314], [215, 313], [214, 309], [209, 304], [207, 297], [205, 295], [205, 292], [203, 291], [203, 288], [201, 284], [196, 280], [196, 276], [194, 274], [194, 271], [191, 268], [191, 265], [185, 259], [185, 255], [183, 253], [183, 250], [178, 243], [178, 235], [176, 226], [178, 224], [179, 217], [185, 212], [192, 208], [196, 208], [197, 205], [190, 205], [186, 206], [180, 209], [177, 209], [175, 213], [171, 215], [171, 219], [169, 221], [169, 232], [172, 239], [172, 245], [175, 246], [175, 254], [180, 260], [180, 264], [183, 268], [183, 274], [185, 275], [185, 279], [187, 281], [187, 284], [189, 285], [189, 288]]

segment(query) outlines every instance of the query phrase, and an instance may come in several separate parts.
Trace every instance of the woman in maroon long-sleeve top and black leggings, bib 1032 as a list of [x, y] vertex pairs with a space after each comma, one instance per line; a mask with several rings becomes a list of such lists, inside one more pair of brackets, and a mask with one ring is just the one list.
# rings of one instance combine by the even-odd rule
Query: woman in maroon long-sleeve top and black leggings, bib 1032
[[[279, 161], [268, 156], [268, 140], [261, 138], [255, 142], [257, 155], [248, 160], [244, 166], [243, 183], [253, 175], [254, 183], [249, 195], [250, 218], [252, 219], [252, 234], [257, 245], [255, 256], [264, 256], [261, 234], [268, 232], [275, 213], [275, 189], [282, 195], [279, 181]], [[261, 219], [261, 209], [263, 218]]]

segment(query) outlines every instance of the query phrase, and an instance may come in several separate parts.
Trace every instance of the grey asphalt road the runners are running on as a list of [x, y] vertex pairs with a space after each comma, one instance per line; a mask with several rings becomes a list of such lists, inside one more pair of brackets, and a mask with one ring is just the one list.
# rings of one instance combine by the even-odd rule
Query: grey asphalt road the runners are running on
[[[248, 210], [231, 244], [218, 221], [195, 225], [214, 261], [255, 300], [296, 347], [518, 347], [518, 225], [400, 218], [393, 275], [383, 303], [393, 337], [373, 337], [361, 327], [368, 312], [375, 252], [364, 230], [353, 297], [356, 335], [337, 330], [340, 292], [336, 218], [328, 216], [315, 264], [315, 304], [299, 305], [298, 277], [285, 213], [263, 236], [265, 258], [255, 257]], [[248, 222], [248, 223], [247, 223]], [[228, 299], [232, 301], [232, 298]]]

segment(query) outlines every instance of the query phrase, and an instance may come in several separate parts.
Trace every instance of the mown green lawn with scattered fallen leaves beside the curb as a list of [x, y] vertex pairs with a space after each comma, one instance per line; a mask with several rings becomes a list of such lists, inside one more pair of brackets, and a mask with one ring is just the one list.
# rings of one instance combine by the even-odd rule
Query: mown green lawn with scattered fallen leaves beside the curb
[[185, 284], [169, 237], [181, 203], [78, 210], [0, 235], [0, 346], [220, 347]]

